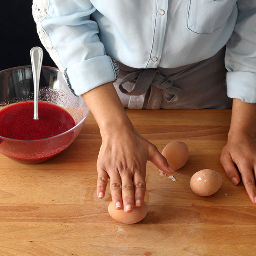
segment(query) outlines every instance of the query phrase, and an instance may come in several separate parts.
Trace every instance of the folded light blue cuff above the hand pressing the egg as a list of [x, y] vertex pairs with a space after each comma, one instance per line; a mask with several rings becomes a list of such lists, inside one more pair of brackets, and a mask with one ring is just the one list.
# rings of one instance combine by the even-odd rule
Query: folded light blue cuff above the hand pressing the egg
[[109, 56], [97, 56], [68, 67], [64, 74], [72, 92], [79, 96], [97, 86], [115, 81], [118, 65]]

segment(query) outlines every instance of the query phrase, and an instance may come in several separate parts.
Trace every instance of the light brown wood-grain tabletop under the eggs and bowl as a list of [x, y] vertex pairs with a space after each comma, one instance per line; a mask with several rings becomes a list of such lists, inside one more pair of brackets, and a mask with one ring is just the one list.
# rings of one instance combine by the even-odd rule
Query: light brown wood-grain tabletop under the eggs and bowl
[[[135, 128], [160, 151], [182, 140], [190, 154], [176, 181], [147, 163], [148, 214], [137, 224], [108, 215], [96, 196], [101, 144], [89, 115], [64, 152], [37, 165], [0, 154], [0, 256], [247, 256], [256, 255], [256, 206], [220, 164], [230, 110], [127, 110]], [[218, 171], [223, 184], [209, 197], [190, 189], [194, 172]]]

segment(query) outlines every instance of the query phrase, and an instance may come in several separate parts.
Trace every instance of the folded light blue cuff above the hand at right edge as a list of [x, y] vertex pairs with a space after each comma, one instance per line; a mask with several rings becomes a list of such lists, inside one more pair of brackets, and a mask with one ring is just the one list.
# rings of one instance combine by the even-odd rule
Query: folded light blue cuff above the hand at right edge
[[256, 73], [244, 71], [227, 72], [227, 90], [230, 98], [256, 103]]

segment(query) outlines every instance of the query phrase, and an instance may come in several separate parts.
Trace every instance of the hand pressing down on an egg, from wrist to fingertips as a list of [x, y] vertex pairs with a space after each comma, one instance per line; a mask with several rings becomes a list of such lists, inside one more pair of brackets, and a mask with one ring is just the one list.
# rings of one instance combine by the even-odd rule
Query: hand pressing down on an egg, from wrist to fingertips
[[156, 146], [143, 138], [133, 126], [102, 136], [97, 161], [98, 197], [104, 197], [109, 177], [116, 209], [131, 212], [134, 206], [142, 206], [146, 192], [147, 160], [164, 172], [173, 172]]

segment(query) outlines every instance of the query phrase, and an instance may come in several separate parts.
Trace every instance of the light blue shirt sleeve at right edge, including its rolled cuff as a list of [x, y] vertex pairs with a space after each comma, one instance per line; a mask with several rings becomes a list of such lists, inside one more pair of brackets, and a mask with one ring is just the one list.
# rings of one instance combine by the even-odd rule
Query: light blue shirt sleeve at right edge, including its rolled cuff
[[227, 43], [225, 64], [230, 98], [256, 103], [256, 1], [238, 0], [238, 18]]

